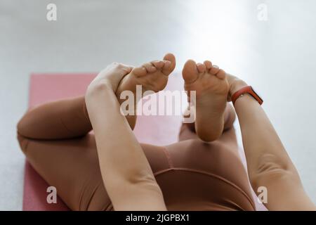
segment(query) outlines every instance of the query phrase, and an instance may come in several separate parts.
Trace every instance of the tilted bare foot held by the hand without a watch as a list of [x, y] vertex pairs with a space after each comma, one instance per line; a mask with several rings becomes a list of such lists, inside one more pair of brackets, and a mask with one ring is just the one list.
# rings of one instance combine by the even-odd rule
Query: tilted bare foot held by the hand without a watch
[[[176, 68], [176, 58], [171, 53], [166, 54], [163, 60], [154, 60], [150, 63], [145, 63], [138, 68], [133, 68], [131, 73], [121, 80], [117, 88], [116, 94], [119, 103], [121, 104], [126, 101], [125, 99], [120, 98], [123, 91], [133, 91], [134, 96], [136, 96], [136, 85], [141, 85], [143, 92], [158, 92], [163, 90], [168, 82], [168, 76], [174, 68]], [[136, 124], [137, 100], [139, 99], [134, 100], [134, 114], [126, 116], [131, 129], [133, 129]]]

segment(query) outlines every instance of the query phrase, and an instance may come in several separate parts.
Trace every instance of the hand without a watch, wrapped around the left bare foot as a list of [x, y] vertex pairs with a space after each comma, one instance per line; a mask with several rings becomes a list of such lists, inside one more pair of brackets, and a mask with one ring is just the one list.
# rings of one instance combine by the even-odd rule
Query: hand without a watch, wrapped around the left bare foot
[[99, 72], [98, 76], [93, 79], [91, 84], [88, 86], [88, 90], [97, 89], [98, 86], [110, 86], [110, 88], [116, 92], [117, 86], [121, 79], [128, 75], [133, 68], [129, 65], [124, 65], [121, 63], [111, 63], [104, 70]]

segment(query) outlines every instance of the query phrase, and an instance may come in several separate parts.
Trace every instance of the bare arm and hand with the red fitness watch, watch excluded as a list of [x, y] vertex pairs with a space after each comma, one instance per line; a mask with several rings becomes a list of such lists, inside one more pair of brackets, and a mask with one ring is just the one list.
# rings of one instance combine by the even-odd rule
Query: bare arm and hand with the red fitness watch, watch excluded
[[[230, 94], [246, 86], [245, 82], [232, 77], [230, 84]], [[265, 206], [269, 210], [316, 210], [261, 105], [246, 94], [237, 99], [235, 110], [242, 130], [251, 186], [255, 192], [261, 186], [268, 190]]]

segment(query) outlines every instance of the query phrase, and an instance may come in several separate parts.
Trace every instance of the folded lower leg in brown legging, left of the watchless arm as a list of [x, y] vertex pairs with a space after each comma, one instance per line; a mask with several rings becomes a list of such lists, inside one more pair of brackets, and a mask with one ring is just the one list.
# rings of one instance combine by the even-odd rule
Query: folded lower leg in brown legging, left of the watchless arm
[[41, 140], [77, 138], [91, 129], [84, 96], [39, 105], [18, 123], [18, 134]]

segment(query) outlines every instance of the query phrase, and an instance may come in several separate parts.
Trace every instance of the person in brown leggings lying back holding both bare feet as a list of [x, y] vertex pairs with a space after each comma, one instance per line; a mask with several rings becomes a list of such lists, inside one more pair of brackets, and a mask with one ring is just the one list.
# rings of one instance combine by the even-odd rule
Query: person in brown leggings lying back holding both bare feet
[[258, 99], [232, 99], [246, 82], [209, 60], [183, 68], [185, 90], [196, 91], [195, 123], [183, 124], [169, 146], [138, 143], [136, 116], [121, 114], [119, 96], [136, 85], [161, 91], [175, 67], [171, 53], [138, 68], [112, 63], [85, 96], [29, 110], [18, 122], [27, 160], [71, 210], [256, 210], [249, 181], [268, 191], [268, 210], [315, 210]]

